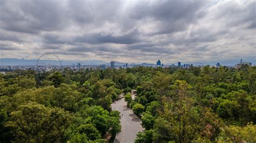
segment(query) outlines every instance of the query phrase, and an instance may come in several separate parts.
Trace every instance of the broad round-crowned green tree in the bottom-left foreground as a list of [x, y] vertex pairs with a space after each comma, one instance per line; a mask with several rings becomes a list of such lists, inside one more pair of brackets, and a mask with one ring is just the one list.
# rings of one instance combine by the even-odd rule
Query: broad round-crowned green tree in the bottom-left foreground
[[16, 128], [17, 142], [55, 142], [71, 124], [72, 115], [59, 108], [28, 103], [11, 112], [6, 126]]

